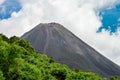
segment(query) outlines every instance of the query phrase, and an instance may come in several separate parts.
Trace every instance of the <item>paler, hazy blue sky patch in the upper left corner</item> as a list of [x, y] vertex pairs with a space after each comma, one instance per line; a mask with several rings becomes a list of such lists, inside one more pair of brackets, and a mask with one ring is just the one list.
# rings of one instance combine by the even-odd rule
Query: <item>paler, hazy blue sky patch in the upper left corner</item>
[[0, 5], [0, 20], [8, 19], [13, 12], [18, 12], [22, 8], [18, 0], [6, 0]]

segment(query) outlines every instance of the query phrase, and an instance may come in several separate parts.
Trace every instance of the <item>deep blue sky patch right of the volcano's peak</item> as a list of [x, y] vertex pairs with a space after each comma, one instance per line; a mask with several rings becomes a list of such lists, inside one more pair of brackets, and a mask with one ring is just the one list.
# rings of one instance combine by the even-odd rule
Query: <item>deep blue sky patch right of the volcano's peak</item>
[[117, 4], [114, 8], [102, 10], [100, 16], [103, 19], [98, 32], [103, 29], [110, 31], [110, 33], [116, 32], [117, 28], [120, 27], [120, 4]]

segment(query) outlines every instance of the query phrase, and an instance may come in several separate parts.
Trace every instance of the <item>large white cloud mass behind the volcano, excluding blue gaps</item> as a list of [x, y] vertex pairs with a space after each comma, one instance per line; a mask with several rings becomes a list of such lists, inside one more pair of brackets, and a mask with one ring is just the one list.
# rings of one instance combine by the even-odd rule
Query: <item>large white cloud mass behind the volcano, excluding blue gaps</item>
[[0, 32], [22, 35], [40, 22], [58, 22], [96, 50], [120, 65], [120, 33], [96, 33], [102, 25], [99, 10], [114, 7], [118, 0], [20, 0], [22, 10], [0, 21]]

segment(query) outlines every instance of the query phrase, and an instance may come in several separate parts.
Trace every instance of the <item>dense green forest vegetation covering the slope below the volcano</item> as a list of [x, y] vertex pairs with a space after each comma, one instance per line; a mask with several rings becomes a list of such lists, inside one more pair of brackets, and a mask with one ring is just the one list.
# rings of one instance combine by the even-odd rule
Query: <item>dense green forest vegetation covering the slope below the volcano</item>
[[[98, 74], [71, 70], [45, 54], [38, 54], [18, 37], [0, 34], [0, 80], [106, 80]], [[119, 80], [111, 77], [111, 80]]]

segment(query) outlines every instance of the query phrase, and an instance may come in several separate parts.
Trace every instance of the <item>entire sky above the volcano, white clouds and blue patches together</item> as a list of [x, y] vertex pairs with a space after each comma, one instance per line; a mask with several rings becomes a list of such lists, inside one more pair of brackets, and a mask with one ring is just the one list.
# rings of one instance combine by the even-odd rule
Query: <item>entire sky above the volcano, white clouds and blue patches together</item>
[[0, 33], [56, 22], [120, 65], [120, 0], [0, 0]]

